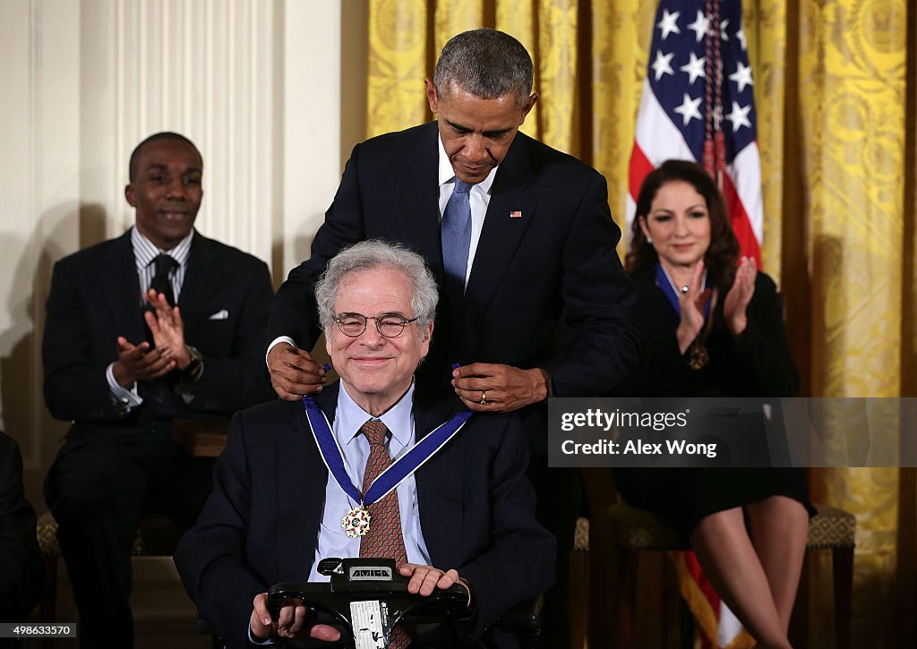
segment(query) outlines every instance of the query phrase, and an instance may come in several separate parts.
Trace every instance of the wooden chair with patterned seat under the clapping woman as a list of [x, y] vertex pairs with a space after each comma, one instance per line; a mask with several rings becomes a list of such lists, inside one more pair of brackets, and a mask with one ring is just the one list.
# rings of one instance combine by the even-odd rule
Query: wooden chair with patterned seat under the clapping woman
[[[604, 471], [607, 481], [597, 473]], [[609, 469], [588, 469], [587, 489], [604, 484], [605, 499], [614, 494]], [[610, 491], [609, 491], [610, 490]], [[623, 502], [596, 507], [589, 521], [588, 639], [590, 649], [634, 644], [637, 551], [689, 550], [674, 530], [656, 515]], [[598, 499], [601, 501], [601, 498]], [[834, 571], [834, 629], [837, 649], [850, 648], [856, 518], [843, 510], [816, 505], [806, 547], [831, 550]], [[574, 576], [575, 577], [575, 576]], [[609, 624], [610, 622], [610, 624]], [[574, 645], [579, 649], [581, 644]]]

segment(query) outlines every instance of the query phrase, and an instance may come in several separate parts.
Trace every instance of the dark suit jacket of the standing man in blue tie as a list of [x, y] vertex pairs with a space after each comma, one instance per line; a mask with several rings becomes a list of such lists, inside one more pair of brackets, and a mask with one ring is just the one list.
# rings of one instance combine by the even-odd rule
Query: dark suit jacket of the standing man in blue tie
[[[319, 335], [313, 284], [328, 259], [367, 238], [421, 254], [442, 286], [436, 123], [374, 137], [353, 149], [312, 258], [290, 273], [271, 309], [269, 340], [311, 348]], [[510, 214], [519, 212], [520, 218]], [[461, 321], [446, 308], [418, 370], [418, 398], [449, 392], [449, 364], [547, 369], [557, 396], [610, 389], [635, 366], [635, 293], [615, 252], [620, 231], [602, 175], [519, 133], [497, 170]], [[445, 307], [441, 301], [440, 307]], [[572, 343], [552, 345], [562, 314]], [[305, 317], [304, 317], [305, 316]], [[533, 451], [547, 452], [547, 408], [520, 413]]]

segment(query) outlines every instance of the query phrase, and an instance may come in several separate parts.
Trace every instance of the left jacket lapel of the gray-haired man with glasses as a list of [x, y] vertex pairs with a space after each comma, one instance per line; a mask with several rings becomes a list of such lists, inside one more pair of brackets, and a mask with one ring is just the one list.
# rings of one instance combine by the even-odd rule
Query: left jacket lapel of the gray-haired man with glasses
[[[315, 402], [334, 423], [337, 405], [337, 384], [315, 395]], [[277, 448], [278, 514], [281, 521], [275, 559], [277, 575], [282, 580], [309, 578], [315, 559], [315, 543], [325, 504], [328, 471], [315, 446], [312, 430], [305, 418], [302, 402], [292, 408], [288, 425], [293, 443]]]

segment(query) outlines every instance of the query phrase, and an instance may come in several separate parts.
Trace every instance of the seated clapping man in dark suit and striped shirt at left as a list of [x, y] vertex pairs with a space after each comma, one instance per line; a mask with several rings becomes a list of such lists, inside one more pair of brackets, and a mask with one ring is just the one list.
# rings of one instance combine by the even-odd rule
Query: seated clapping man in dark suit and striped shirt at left
[[[54, 266], [42, 341], [45, 401], [72, 420], [45, 497], [80, 612], [82, 646], [133, 645], [130, 546], [141, 512], [188, 526], [212, 461], [171, 439], [179, 416], [271, 398], [267, 266], [193, 230], [204, 163], [176, 133], [130, 158], [125, 235]], [[173, 306], [174, 305], [174, 306]]]

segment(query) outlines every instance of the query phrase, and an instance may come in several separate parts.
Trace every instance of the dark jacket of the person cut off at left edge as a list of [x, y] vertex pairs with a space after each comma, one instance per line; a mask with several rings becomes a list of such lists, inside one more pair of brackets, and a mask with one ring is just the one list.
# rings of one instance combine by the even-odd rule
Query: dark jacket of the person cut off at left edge
[[0, 433], [0, 622], [21, 622], [41, 597], [35, 510], [22, 488], [19, 447]]

